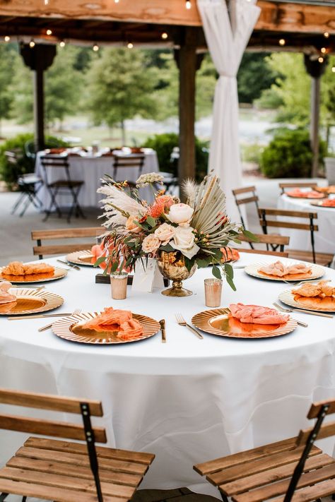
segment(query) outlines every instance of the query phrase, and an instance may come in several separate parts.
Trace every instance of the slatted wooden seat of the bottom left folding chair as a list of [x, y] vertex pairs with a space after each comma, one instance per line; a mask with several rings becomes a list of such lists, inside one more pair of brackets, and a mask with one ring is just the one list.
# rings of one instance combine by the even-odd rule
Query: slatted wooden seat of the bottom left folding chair
[[[104, 501], [129, 500], [141, 483], [154, 455], [114, 448], [95, 448]], [[28, 493], [34, 493], [36, 496], [37, 489], [40, 497], [55, 501], [73, 502], [76, 496], [80, 496], [80, 500], [96, 501], [87, 448], [79, 443], [28, 438], [24, 446], [8, 460], [6, 467], [0, 470], [0, 491], [7, 491], [8, 482], [12, 483], [9, 492], [13, 494], [28, 496]], [[14, 484], [18, 485], [16, 491], [13, 491]], [[92, 497], [94, 494], [95, 497]]]

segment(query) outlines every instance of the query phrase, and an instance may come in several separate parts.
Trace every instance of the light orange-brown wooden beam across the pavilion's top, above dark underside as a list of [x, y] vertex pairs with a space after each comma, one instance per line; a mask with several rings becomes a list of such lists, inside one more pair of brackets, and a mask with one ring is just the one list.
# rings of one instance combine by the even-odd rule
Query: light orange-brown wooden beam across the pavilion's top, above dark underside
[[[276, 32], [335, 33], [335, 8], [324, 5], [259, 0], [261, 15], [255, 30]], [[94, 6], [94, 7], [93, 7]], [[184, 0], [49, 0], [45, 6], [41, 0], [26, 2], [11, 0], [1, 3], [0, 16], [29, 16], [41, 18], [100, 19], [163, 25], [201, 26], [201, 18], [192, 0], [192, 8], [186, 9]]]

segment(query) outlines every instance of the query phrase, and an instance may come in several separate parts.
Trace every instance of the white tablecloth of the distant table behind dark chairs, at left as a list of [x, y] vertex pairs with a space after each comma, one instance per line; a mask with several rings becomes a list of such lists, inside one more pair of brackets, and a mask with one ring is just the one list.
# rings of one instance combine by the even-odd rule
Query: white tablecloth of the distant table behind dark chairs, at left
[[[44, 152], [37, 153], [35, 173], [44, 179], [44, 172], [41, 165], [41, 157], [45, 155]], [[158, 172], [158, 159], [157, 154], [154, 150], [146, 149], [145, 151], [145, 161], [142, 169], [142, 174], [148, 172]], [[85, 183], [81, 187], [79, 193], [78, 201], [83, 208], [98, 208], [100, 207], [99, 201], [102, 199], [101, 193], [97, 193], [97, 189], [101, 185], [101, 179], [105, 174], [113, 176], [113, 157], [100, 156], [95, 157], [93, 155], [86, 155], [81, 157], [79, 155], [69, 156], [70, 165], [70, 176], [71, 179], [83, 180]], [[121, 170], [121, 169], [120, 169]], [[136, 181], [139, 177], [138, 169], [131, 167], [122, 167], [122, 179], [128, 179], [129, 181]], [[64, 169], [48, 169], [47, 170], [48, 181], [55, 181], [59, 178], [65, 178]], [[148, 188], [140, 189], [141, 197], [146, 200], [150, 200], [151, 191]], [[42, 201], [43, 208], [49, 208], [50, 196], [47, 188], [42, 186], [38, 192], [38, 197]], [[57, 196], [57, 203], [60, 206], [66, 206], [71, 204], [71, 195]]]

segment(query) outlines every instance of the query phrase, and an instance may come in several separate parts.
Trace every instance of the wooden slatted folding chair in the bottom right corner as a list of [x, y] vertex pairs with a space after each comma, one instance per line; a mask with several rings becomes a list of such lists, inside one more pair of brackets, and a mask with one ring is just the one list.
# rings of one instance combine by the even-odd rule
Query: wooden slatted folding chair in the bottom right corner
[[297, 438], [260, 446], [235, 455], [194, 465], [194, 470], [217, 486], [228, 502], [308, 502], [335, 493], [335, 460], [314, 445], [335, 434], [335, 422], [322, 425], [335, 412], [335, 400], [310, 407], [315, 425]]

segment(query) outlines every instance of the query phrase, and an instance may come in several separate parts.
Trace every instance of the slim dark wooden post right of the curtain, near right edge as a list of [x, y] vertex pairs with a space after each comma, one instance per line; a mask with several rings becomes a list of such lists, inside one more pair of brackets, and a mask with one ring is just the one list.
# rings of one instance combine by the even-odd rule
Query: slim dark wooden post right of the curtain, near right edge
[[320, 62], [319, 59], [310, 59], [310, 56], [305, 54], [304, 60], [307, 73], [309, 73], [312, 78], [310, 99], [310, 144], [313, 153], [311, 177], [315, 178], [319, 170], [320, 84], [321, 76], [328, 64], [328, 57], [322, 57], [322, 61]]

